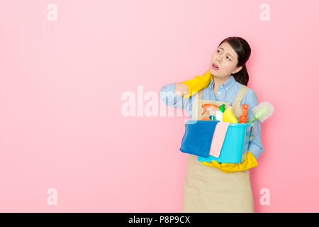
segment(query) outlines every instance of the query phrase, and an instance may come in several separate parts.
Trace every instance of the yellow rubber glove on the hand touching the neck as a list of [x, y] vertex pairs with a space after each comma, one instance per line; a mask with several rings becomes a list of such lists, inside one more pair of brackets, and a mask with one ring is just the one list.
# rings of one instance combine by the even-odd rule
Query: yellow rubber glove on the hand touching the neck
[[189, 87], [189, 93], [185, 94], [183, 97], [188, 99], [194, 94], [194, 92], [198, 92], [204, 87], [207, 87], [208, 84], [211, 82], [211, 79], [213, 79], [213, 75], [211, 74], [211, 72], [209, 72], [209, 70], [207, 70], [201, 76], [195, 76], [193, 79], [181, 82]]

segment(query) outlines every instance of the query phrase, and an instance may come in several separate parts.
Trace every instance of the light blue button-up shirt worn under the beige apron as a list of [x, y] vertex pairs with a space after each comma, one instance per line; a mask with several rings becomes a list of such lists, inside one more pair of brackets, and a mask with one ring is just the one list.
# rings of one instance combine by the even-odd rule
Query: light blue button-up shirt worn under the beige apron
[[[162, 87], [159, 92], [160, 99], [167, 104], [167, 106], [173, 106], [178, 109], [185, 109], [189, 116], [192, 117], [192, 107], [193, 107], [193, 99], [194, 95], [191, 96], [189, 99], [184, 99], [182, 96], [175, 94], [175, 84], [166, 84]], [[216, 101], [225, 101], [229, 103], [233, 103], [239, 92], [242, 84], [237, 82], [233, 76], [230, 78], [220, 87], [218, 87], [217, 95], [213, 92], [213, 79], [209, 83], [208, 87], [203, 89], [203, 94], [201, 96], [202, 99], [208, 100], [216, 100]], [[252, 113], [252, 109], [258, 105], [257, 95], [254, 90], [248, 87], [245, 96], [242, 98], [241, 104], [249, 104], [248, 107], [248, 114], [247, 114], [247, 121], [254, 117]], [[256, 129], [256, 137], [250, 141], [248, 145], [248, 150], [250, 153], [254, 155], [256, 159], [262, 154], [264, 149], [262, 148], [262, 140], [261, 140], [261, 130], [260, 130], [260, 121], [254, 121], [254, 127]]]

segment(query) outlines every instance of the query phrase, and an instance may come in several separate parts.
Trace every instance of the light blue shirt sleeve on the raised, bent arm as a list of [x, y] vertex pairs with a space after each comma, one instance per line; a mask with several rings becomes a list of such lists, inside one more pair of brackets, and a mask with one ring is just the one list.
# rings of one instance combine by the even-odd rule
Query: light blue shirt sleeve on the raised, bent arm
[[178, 109], [185, 109], [189, 111], [191, 106], [191, 99], [185, 99], [182, 96], [175, 94], [175, 84], [165, 84], [159, 92], [160, 99], [167, 104]]

